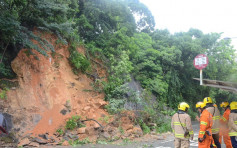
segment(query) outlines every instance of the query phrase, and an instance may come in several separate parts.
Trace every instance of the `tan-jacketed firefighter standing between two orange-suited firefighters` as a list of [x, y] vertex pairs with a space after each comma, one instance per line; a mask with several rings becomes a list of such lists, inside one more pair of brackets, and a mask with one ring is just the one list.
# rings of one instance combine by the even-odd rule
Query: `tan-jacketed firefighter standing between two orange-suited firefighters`
[[212, 115], [213, 125], [211, 127], [212, 137], [214, 139], [215, 145], [217, 148], [221, 148], [219, 142], [219, 132], [220, 132], [220, 111], [217, 107], [214, 106], [213, 101], [210, 97], [203, 99], [205, 109]]

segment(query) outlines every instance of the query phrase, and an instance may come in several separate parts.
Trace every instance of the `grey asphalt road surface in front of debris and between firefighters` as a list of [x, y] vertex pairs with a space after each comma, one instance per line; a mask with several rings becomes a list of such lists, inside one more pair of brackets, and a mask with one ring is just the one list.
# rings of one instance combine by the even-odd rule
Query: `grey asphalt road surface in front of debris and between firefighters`
[[[193, 130], [194, 130], [194, 140], [190, 141], [190, 148], [198, 147], [198, 132], [199, 132], [199, 123], [193, 122]], [[114, 144], [96, 144], [96, 145], [83, 145], [83, 146], [75, 146], [79, 148], [173, 148], [174, 147], [174, 137], [173, 135], [169, 135], [164, 140], [156, 140], [148, 142], [129, 142], [123, 143], [120, 145]], [[65, 148], [65, 147], [64, 147]], [[71, 147], [70, 147], [71, 148]], [[222, 144], [222, 148], [226, 148], [224, 144]]]

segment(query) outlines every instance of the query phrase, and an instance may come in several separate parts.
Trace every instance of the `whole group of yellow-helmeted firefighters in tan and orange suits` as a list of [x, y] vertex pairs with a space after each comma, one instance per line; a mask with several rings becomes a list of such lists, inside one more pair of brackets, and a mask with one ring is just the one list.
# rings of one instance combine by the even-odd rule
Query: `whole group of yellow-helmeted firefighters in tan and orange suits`
[[[198, 134], [199, 148], [221, 148], [222, 138], [226, 148], [237, 148], [237, 102], [222, 102], [220, 107], [225, 110], [223, 116], [210, 97], [196, 104], [200, 113], [200, 130]], [[189, 105], [181, 102], [178, 111], [172, 116], [171, 127], [175, 136], [175, 148], [189, 148], [194, 133], [191, 118], [187, 114]]]

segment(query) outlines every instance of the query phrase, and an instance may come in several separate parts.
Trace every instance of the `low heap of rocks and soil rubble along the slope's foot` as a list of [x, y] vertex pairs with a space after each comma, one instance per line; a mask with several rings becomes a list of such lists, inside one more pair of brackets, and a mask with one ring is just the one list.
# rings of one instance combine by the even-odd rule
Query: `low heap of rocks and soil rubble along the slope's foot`
[[[86, 144], [98, 141], [117, 141], [125, 138], [133, 140], [143, 135], [140, 126], [135, 125], [135, 119], [135, 114], [131, 111], [124, 111], [108, 118], [104, 116], [100, 121], [78, 118], [75, 120], [77, 122], [77, 128], [73, 130], [61, 128], [55, 131], [53, 135], [45, 133], [39, 134], [37, 137], [28, 134], [20, 140], [18, 146], [68, 146], [73, 143]], [[94, 122], [94, 124], [86, 126], [86, 122]], [[106, 122], [108, 123], [106, 124]], [[83, 124], [85, 126], [81, 126]]]

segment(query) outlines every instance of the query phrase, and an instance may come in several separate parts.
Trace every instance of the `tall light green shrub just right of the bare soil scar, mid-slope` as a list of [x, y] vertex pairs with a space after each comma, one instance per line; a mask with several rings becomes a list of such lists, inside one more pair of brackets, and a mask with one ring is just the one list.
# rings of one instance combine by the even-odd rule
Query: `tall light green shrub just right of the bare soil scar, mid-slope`
[[126, 51], [123, 51], [118, 59], [111, 55], [110, 61], [111, 75], [108, 78], [108, 82], [104, 83], [104, 91], [106, 93], [105, 99], [109, 101], [106, 109], [113, 114], [121, 111], [123, 108], [127, 93], [129, 92], [129, 88], [125, 83], [130, 81], [130, 72], [133, 67]]

